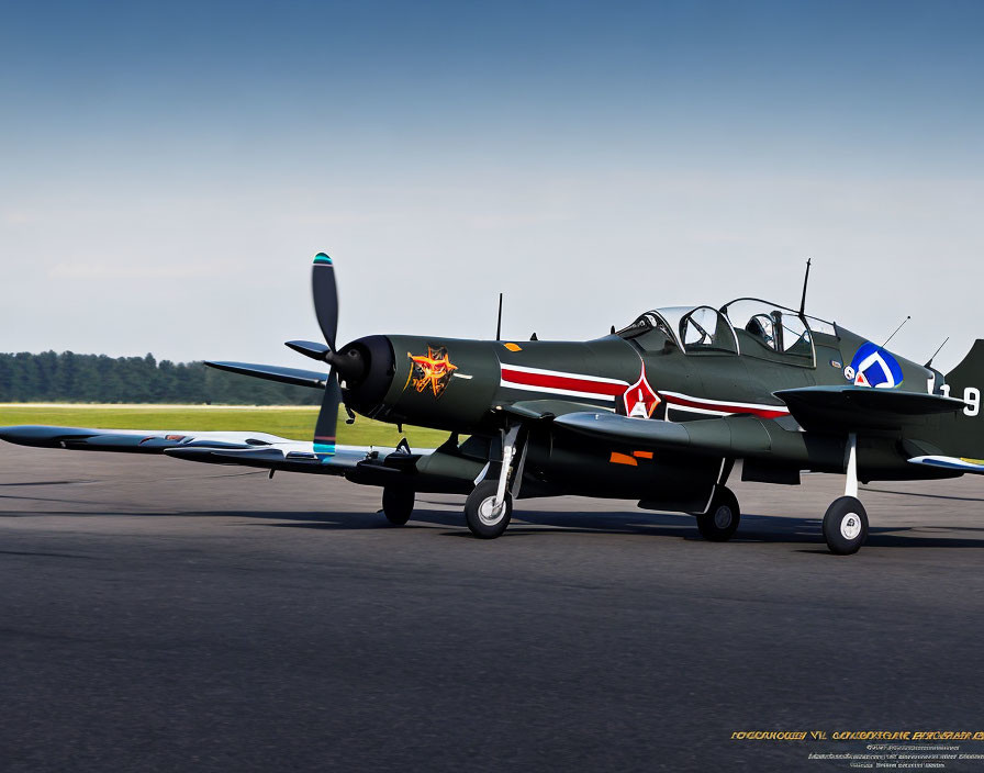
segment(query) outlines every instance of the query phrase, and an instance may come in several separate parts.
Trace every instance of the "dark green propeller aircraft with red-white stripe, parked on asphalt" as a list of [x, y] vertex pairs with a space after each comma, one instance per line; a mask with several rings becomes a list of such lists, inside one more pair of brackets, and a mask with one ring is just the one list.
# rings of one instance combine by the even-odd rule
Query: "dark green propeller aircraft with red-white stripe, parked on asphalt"
[[[514, 500], [575, 494], [692, 514], [703, 537], [724, 541], [740, 520], [727, 486], [736, 461], [742, 480], [763, 483], [837, 473], [843, 496], [827, 508], [823, 533], [840, 554], [868, 536], [859, 481], [984, 473], [984, 339], [944, 376], [931, 361], [920, 366], [805, 314], [805, 282], [798, 311], [750, 298], [653, 309], [589, 341], [370, 335], [342, 347], [335, 270], [324, 253], [314, 258], [312, 284], [324, 343], [287, 346], [327, 373], [208, 363], [322, 390], [311, 442], [51, 426], [0, 427], [0, 438], [243, 464], [271, 477], [344, 475], [380, 486], [394, 525], [409, 520], [420, 492], [463, 494], [468, 528], [487, 539], [506, 529]], [[339, 405], [351, 418], [449, 436], [423, 450], [405, 439], [396, 448], [337, 445]]]

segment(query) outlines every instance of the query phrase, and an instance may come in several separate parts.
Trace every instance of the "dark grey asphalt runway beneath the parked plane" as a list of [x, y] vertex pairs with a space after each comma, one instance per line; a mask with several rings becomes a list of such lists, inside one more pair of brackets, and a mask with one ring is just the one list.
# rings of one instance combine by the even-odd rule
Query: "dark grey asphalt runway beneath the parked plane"
[[[4, 771], [849, 770], [747, 730], [984, 730], [984, 481], [736, 483], [727, 544], [630, 502], [460, 497], [0, 444]], [[961, 744], [984, 753], [984, 743]], [[946, 770], [982, 770], [948, 763]]]

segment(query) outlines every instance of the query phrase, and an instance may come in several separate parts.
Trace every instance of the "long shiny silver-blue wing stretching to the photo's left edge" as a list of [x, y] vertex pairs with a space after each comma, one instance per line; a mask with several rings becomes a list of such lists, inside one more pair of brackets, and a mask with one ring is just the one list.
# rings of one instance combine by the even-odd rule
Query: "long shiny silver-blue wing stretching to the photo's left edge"
[[0, 427], [0, 439], [36, 448], [116, 451], [123, 453], [163, 453], [188, 461], [213, 464], [243, 464], [268, 470], [346, 474], [360, 466], [403, 470], [405, 464], [384, 464], [416, 460], [427, 451], [410, 453], [404, 449], [368, 446], [336, 446], [332, 455], [316, 453], [314, 444], [247, 432], [189, 432], [148, 429], [89, 429], [83, 427], [15, 426]]

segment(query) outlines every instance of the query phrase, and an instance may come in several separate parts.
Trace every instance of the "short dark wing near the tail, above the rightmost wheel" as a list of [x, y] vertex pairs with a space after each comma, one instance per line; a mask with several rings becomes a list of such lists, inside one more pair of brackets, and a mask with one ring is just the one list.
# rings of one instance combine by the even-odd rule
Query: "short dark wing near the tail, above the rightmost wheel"
[[853, 385], [785, 389], [775, 396], [804, 429], [828, 434], [899, 429], [925, 416], [965, 406], [962, 400], [940, 394]]

